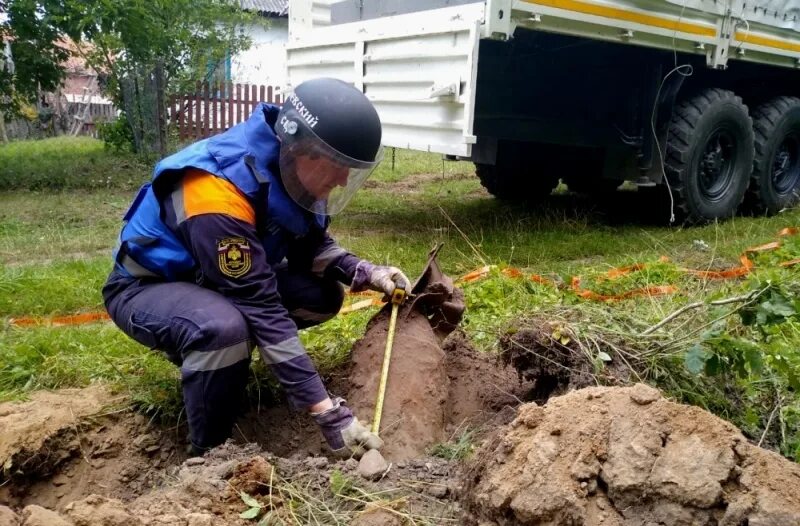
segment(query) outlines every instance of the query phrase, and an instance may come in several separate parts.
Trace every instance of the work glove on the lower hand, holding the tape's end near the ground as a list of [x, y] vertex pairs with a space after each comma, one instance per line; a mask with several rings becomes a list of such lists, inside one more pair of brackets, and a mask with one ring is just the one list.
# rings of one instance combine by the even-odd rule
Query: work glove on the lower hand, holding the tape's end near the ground
[[333, 407], [311, 416], [336, 456], [360, 458], [368, 449], [383, 447], [383, 440], [353, 416], [343, 398], [336, 397], [332, 402]]

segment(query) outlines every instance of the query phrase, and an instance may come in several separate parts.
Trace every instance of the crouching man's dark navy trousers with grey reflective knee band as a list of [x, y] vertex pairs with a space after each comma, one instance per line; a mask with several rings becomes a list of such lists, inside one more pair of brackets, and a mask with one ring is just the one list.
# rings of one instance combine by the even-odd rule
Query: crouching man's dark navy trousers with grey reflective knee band
[[[281, 302], [298, 328], [339, 311], [342, 286], [311, 274], [275, 269]], [[192, 444], [208, 449], [231, 436], [247, 384], [253, 340], [245, 318], [218, 292], [188, 282], [159, 282], [112, 272], [103, 287], [122, 331], [162, 351], [181, 368]]]

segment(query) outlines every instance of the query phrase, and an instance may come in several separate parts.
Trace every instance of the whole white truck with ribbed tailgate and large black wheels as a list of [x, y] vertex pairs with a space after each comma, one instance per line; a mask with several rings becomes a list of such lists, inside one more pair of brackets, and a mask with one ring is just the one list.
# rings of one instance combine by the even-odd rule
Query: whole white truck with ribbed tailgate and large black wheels
[[800, 199], [799, 31], [798, 0], [292, 0], [288, 88], [353, 84], [500, 199], [629, 181], [706, 223]]

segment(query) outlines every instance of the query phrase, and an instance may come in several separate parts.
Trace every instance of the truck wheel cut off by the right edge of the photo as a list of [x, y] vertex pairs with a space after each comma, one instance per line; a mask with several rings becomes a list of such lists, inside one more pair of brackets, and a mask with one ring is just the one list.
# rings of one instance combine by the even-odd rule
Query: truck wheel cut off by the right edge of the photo
[[749, 208], [776, 214], [800, 201], [800, 99], [778, 97], [753, 112], [755, 159]]

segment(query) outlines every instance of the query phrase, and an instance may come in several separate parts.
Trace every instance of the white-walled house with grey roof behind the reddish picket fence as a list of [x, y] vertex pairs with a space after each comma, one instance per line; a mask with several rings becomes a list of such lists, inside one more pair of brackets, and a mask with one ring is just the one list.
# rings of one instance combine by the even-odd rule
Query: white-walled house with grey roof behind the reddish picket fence
[[247, 29], [250, 49], [230, 61], [229, 79], [241, 84], [286, 85], [286, 41], [289, 38], [289, 0], [240, 0], [242, 9], [266, 18], [266, 24]]

